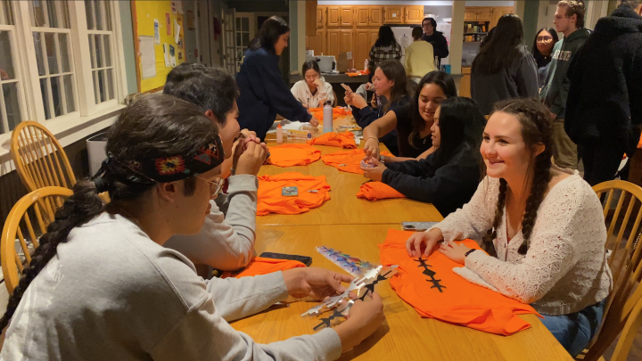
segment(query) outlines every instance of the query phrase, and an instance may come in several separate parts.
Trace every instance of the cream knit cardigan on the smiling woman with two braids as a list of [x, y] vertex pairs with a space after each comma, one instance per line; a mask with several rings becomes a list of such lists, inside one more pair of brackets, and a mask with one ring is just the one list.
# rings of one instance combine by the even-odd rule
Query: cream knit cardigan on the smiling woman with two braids
[[[472, 238], [479, 242], [492, 228], [498, 190], [498, 178], [486, 176], [470, 202], [435, 226], [444, 240]], [[494, 241], [498, 258], [475, 251], [465, 258], [465, 267], [455, 268], [455, 272], [507, 297], [531, 303], [546, 315], [580, 311], [605, 299], [613, 289], [600, 201], [577, 171], [555, 185], [542, 201], [526, 255], [517, 252], [522, 242], [522, 231], [506, 242], [505, 211]]]

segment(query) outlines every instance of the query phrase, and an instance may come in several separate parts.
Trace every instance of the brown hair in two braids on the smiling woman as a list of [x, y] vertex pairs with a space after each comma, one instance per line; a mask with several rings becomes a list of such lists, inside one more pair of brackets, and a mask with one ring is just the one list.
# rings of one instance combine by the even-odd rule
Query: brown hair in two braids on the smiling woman
[[[495, 104], [493, 113], [502, 111], [514, 115], [522, 126], [523, 142], [527, 149], [534, 152], [537, 144], [544, 144], [544, 151], [539, 153], [529, 164], [529, 175], [526, 177], [527, 183], [531, 184], [531, 193], [526, 200], [526, 209], [524, 209], [522, 218], [522, 235], [523, 243], [518, 252], [526, 254], [529, 249], [529, 241], [533, 226], [537, 219], [539, 205], [544, 201], [547, 193], [548, 183], [551, 179], [550, 168], [552, 166], [551, 157], [553, 156], [553, 122], [550, 119], [547, 108], [533, 99], [508, 100]], [[492, 114], [491, 114], [492, 116]], [[524, 186], [526, 186], [524, 185]], [[504, 207], [506, 206], [506, 180], [499, 179], [499, 196], [495, 217], [493, 218], [493, 228], [489, 231], [482, 242], [482, 249], [489, 253], [490, 256], [497, 257], [493, 240], [497, 238], [497, 230], [502, 217], [504, 217]]]

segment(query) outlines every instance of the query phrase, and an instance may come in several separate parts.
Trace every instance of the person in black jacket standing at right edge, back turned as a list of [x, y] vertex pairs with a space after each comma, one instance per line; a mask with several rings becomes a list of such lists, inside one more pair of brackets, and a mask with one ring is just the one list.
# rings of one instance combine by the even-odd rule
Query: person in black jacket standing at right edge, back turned
[[622, 1], [597, 21], [569, 70], [564, 127], [589, 185], [612, 180], [636, 152], [642, 123], [642, 1]]

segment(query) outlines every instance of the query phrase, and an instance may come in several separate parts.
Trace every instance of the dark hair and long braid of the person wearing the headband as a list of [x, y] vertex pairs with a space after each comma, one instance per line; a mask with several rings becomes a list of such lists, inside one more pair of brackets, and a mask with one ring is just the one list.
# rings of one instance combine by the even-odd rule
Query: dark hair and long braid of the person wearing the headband
[[[129, 103], [108, 136], [106, 151], [110, 158], [103, 161], [98, 172], [102, 176], [95, 181], [78, 181], [73, 187], [73, 195], [57, 210], [55, 220], [40, 238], [40, 247], [34, 251], [29, 267], [25, 267], [18, 286], [13, 290], [6, 313], [0, 319], [0, 329], [9, 324], [29, 284], [56, 255], [58, 245], [67, 242], [73, 228], [86, 224], [105, 210], [119, 207], [119, 204], [136, 203], [133, 201], [141, 199], [157, 185], [151, 179], [133, 177], [132, 170], [123, 167], [123, 162], [142, 156], [189, 154], [196, 152], [211, 136], [218, 136], [218, 127], [212, 125], [204, 112], [167, 94], [148, 94]], [[188, 196], [193, 193], [195, 178], [185, 178], [184, 182], [185, 195]], [[98, 193], [103, 192], [110, 194], [109, 205], [98, 198]]]

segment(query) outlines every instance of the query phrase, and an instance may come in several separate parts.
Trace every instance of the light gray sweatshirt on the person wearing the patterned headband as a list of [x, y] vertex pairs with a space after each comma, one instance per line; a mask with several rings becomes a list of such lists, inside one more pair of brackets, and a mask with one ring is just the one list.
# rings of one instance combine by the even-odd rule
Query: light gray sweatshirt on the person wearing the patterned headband
[[258, 344], [227, 321], [288, 297], [283, 275], [203, 281], [192, 262], [103, 213], [29, 285], [2, 360], [334, 360], [332, 329]]

